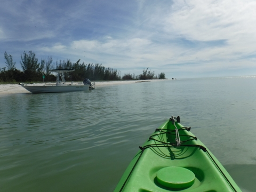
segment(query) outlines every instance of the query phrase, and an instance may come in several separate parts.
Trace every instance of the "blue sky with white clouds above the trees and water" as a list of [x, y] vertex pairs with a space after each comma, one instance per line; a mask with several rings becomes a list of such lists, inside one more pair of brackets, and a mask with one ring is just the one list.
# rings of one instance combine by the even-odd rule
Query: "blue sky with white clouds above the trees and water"
[[[256, 2], [251, 0], [0, 0], [4, 52], [38, 60], [99, 63], [167, 78], [256, 75]], [[2, 55], [2, 56], [1, 56]]]

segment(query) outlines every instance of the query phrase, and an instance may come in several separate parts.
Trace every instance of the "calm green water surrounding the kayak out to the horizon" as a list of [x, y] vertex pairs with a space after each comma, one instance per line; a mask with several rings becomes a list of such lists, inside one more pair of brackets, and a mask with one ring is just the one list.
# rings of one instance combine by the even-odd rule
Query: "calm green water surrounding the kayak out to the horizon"
[[255, 191], [256, 77], [0, 96], [1, 191], [113, 191], [138, 146], [180, 115], [243, 191]]

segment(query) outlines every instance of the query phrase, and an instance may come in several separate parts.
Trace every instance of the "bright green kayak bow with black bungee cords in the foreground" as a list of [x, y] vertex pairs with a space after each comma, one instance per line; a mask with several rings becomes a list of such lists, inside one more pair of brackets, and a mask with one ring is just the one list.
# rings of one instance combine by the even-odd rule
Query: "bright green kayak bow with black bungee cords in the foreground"
[[241, 191], [217, 158], [171, 117], [132, 159], [116, 191]]

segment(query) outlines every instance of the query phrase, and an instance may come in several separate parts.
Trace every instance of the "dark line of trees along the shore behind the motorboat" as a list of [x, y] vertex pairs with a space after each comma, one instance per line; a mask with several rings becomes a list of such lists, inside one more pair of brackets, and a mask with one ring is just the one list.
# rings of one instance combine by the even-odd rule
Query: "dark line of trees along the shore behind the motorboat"
[[[51, 69], [74, 69], [70, 73], [65, 74], [67, 81], [83, 81], [89, 78], [91, 81], [113, 81], [113, 80], [136, 80], [136, 79], [156, 79], [165, 78], [165, 74], [155, 75], [148, 68], [143, 69], [140, 75], [125, 74], [123, 77], [120, 71], [113, 68], [107, 68], [99, 63], [81, 63], [80, 59], [75, 63], [70, 60], [59, 60], [53, 63], [52, 57], [38, 60], [36, 54], [32, 51], [26, 51], [21, 54], [20, 65], [22, 71], [15, 68], [16, 62], [13, 61], [12, 55], [4, 53], [6, 67], [0, 68], [0, 82], [40, 82], [45, 78], [46, 82], [55, 81], [55, 76], [51, 73]], [[7, 68], [7, 69], [6, 69]]]

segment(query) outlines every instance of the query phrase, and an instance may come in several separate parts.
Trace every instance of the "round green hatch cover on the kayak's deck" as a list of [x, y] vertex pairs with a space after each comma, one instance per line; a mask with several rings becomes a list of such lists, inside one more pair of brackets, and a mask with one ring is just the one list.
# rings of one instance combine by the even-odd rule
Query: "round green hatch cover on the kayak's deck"
[[156, 173], [157, 181], [170, 188], [187, 188], [193, 185], [195, 174], [183, 167], [164, 167]]

